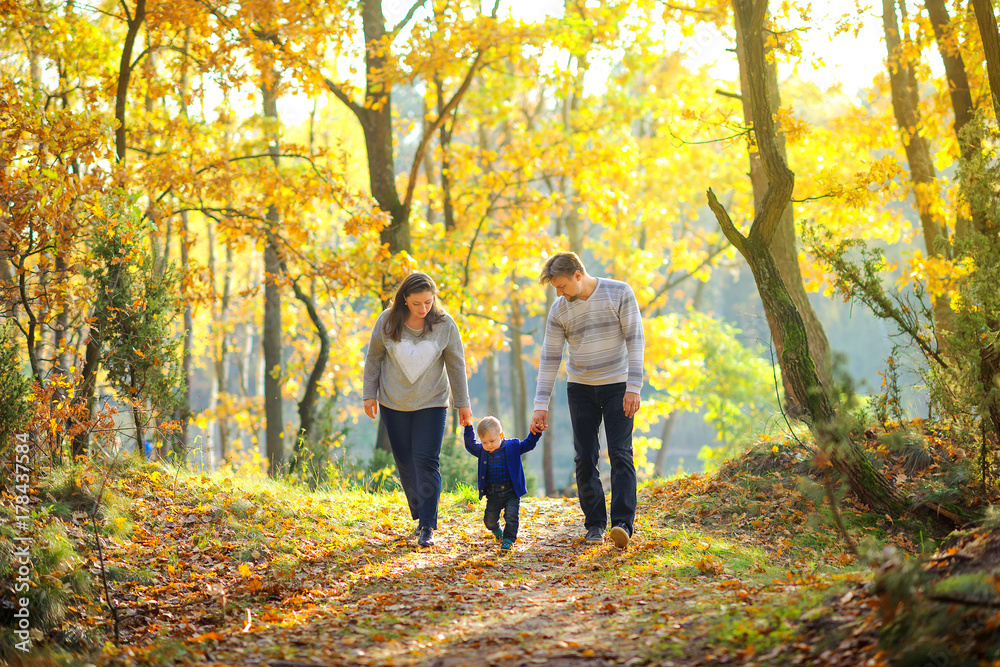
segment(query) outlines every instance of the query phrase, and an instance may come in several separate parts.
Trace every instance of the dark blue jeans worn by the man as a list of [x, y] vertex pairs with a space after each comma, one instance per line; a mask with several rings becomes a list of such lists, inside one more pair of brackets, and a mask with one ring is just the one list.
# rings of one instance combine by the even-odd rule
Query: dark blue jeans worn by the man
[[598, 432], [604, 422], [611, 459], [611, 525], [624, 526], [629, 535], [635, 522], [635, 463], [632, 460], [632, 417], [625, 416], [625, 383], [587, 385], [570, 382], [566, 391], [576, 448], [576, 486], [587, 529], [605, 529], [608, 511], [598, 462]]

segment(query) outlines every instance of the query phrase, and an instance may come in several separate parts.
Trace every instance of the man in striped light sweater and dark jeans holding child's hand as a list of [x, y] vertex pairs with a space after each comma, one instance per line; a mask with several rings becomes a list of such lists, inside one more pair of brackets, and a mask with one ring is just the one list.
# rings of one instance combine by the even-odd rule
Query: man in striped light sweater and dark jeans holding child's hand
[[547, 426], [549, 400], [569, 347], [566, 394], [576, 449], [576, 485], [584, 514], [587, 542], [604, 540], [608, 512], [598, 470], [604, 422], [611, 459], [611, 539], [624, 549], [635, 522], [636, 479], [632, 460], [632, 424], [639, 410], [645, 339], [642, 316], [626, 283], [595, 278], [576, 253], [558, 252], [545, 262], [538, 278], [556, 290], [542, 343], [535, 389], [533, 432]]

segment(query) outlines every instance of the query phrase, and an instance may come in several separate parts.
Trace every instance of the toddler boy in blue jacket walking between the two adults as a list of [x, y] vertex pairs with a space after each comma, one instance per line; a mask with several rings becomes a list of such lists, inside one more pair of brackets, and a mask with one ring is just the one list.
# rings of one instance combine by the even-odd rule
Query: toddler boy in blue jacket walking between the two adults
[[[493, 416], [480, 420], [476, 432], [482, 444], [476, 442], [472, 425], [465, 427], [465, 448], [479, 459], [479, 497], [486, 496], [483, 523], [500, 540], [500, 548], [510, 551], [517, 540], [521, 496], [528, 492], [521, 454], [534, 449], [542, 434], [532, 433], [524, 440], [504, 440], [500, 420]], [[502, 531], [501, 510], [505, 522]]]

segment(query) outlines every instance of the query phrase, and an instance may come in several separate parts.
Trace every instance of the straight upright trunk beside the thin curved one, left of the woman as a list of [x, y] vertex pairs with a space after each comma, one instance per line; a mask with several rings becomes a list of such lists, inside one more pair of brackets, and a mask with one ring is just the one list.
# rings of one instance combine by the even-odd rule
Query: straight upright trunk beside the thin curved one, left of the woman
[[[264, 98], [264, 116], [275, 126], [278, 122], [278, 81], [279, 74], [273, 68], [265, 72], [261, 86]], [[274, 168], [278, 168], [278, 133], [276, 127], [268, 152]], [[284, 384], [281, 363], [281, 289], [278, 285], [281, 273], [281, 255], [278, 249], [278, 228], [281, 219], [278, 206], [271, 202], [267, 206], [267, 231], [264, 245], [264, 418], [265, 443], [267, 447], [267, 472], [272, 477], [279, 475], [284, 467], [284, 410], [281, 386]]]

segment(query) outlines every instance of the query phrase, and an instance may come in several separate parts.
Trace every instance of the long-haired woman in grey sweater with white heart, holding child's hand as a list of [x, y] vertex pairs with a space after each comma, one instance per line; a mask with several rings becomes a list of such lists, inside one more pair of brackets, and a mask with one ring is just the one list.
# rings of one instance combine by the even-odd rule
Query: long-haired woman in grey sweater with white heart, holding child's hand
[[434, 544], [441, 496], [441, 442], [448, 419], [448, 387], [462, 425], [472, 423], [465, 351], [458, 326], [437, 303], [437, 285], [414, 273], [379, 315], [365, 358], [365, 414], [389, 435], [399, 481], [418, 521], [417, 544]]

